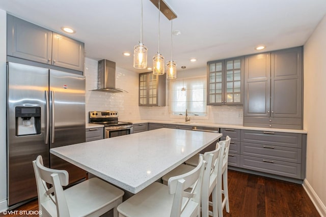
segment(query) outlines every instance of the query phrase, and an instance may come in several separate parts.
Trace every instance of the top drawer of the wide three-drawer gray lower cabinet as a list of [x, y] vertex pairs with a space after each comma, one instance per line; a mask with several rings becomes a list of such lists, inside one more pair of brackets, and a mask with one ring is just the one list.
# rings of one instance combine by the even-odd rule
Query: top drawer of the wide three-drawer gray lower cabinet
[[302, 134], [242, 130], [241, 142], [301, 148]]

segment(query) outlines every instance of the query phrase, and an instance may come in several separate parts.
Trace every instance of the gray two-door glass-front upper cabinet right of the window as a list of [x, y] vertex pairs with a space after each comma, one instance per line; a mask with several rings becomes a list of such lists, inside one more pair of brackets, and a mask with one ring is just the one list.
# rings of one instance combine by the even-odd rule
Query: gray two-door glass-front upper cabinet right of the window
[[207, 105], [243, 104], [243, 57], [207, 63]]

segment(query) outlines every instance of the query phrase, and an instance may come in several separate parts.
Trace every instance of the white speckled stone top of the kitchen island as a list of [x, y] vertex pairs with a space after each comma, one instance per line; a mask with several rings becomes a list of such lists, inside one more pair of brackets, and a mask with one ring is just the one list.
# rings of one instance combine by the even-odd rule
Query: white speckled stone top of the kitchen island
[[136, 194], [221, 137], [164, 128], [51, 148], [50, 153]]

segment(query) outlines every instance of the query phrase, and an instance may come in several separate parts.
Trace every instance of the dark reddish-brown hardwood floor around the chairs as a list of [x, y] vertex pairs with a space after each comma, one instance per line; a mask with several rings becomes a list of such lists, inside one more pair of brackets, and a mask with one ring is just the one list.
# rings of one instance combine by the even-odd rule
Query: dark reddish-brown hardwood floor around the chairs
[[[229, 170], [230, 213], [224, 216], [320, 216], [301, 184]], [[37, 200], [17, 210], [38, 210]], [[37, 217], [12, 214], [0, 216]], [[154, 216], [153, 216], [154, 217]]]

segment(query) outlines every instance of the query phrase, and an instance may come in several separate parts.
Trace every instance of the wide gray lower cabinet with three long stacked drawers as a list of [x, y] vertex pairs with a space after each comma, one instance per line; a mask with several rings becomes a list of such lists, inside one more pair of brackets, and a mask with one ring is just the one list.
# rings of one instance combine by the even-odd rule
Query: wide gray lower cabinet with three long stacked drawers
[[306, 134], [241, 130], [240, 167], [304, 179]]

